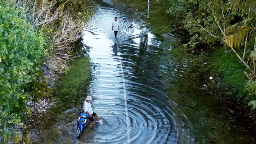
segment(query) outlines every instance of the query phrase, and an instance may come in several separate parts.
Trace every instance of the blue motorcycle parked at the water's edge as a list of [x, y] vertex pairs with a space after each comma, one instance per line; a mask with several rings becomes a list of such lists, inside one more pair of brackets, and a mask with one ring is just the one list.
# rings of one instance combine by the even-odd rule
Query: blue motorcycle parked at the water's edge
[[87, 114], [85, 113], [78, 113], [79, 117], [77, 120], [77, 131], [76, 131], [76, 138], [79, 139], [81, 136], [82, 131], [85, 129], [85, 126], [87, 125], [88, 121], [89, 121], [89, 117]]

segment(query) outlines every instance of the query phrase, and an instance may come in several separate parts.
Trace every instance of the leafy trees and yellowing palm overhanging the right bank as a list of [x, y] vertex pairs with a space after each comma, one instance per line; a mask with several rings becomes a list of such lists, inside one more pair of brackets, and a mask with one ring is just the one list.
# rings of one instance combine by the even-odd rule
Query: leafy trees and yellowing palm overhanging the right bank
[[[166, 12], [181, 21], [180, 26], [192, 36], [184, 46], [193, 49], [197, 44], [210, 47], [224, 44], [230, 48], [247, 68], [246, 90], [249, 97], [255, 98], [255, 1], [172, 0], [169, 4]], [[253, 109], [254, 102], [249, 103]]]

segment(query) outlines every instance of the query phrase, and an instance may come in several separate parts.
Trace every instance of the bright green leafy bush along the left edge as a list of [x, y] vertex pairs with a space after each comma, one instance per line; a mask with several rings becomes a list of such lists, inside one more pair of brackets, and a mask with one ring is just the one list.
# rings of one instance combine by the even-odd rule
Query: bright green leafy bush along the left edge
[[44, 37], [24, 21], [23, 10], [0, 2], [0, 141], [19, 140], [15, 132], [29, 114], [26, 103], [44, 62]]

